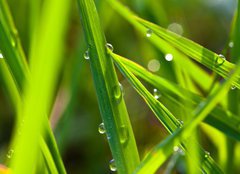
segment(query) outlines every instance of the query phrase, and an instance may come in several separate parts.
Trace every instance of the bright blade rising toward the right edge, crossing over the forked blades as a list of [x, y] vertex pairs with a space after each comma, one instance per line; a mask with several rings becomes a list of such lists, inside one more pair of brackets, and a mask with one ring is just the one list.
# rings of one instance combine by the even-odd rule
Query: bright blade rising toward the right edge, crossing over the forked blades
[[[193, 119], [187, 122], [181, 129], [176, 130], [173, 135], [165, 139], [162, 143], [154, 147], [152, 152], [141, 162], [139, 167], [136, 169], [135, 173], [144, 173], [151, 170], [154, 173], [158, 167], [163, 163], [163, 161], [156, 160], [161, 159], [162, 156], [167, 158], [171, 154], [171, 149], [179, 145], [181, 141], [186, 140], [192, 131], [198, 126], [201, 121], [208, 115], [208, 113], [218, 104], [224, 95], [227, 94], [233, 80], [238, 76], [240, 72], [240, 66], [237, 66], [237, 69], [234, 73], [227, 79], [227, 81], [219, 86], [208, 98], [206, 101], [201, 102], [198, 107], [193, 112]], [[207, 156], [209, 159], [209, 156]], [[205, 159], [205, 161], [207, 161]], [[154, 165], [153, 165], [154, 162]], [[211, 164], [211, 161], [209, 161]], [[217, 168], [211, 168], [208, 172], [210, 173], [222, 173]], [[208, 173], [207, 172], [207, 173]]]

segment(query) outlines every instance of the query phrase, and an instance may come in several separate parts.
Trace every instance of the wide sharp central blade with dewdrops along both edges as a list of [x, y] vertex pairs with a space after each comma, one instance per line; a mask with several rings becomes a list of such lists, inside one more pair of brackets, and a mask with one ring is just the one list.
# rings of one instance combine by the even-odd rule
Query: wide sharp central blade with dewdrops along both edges
[[139, 163], [137, 146], [95, 4], [93, 0], [78, 0], [78, 4], [110, 149], [118, 173], [132, 173]]

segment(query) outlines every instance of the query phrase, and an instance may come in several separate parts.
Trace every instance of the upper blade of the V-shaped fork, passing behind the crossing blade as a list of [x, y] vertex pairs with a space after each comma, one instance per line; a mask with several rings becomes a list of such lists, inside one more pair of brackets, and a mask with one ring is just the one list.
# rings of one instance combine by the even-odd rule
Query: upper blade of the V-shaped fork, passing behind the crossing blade
[[[178, 85], [170, 81], [167, 81], [166, 79], [158, 75], [155, 75], [149, 72], [142, 66], [132, 62], [129, 59], [119, 57], [119, 60], [133, 74], [137, 75], [138, 77], [142, 78], [143, 80], [145, 80], [146, 82], [154, 86], [156, 89], [158, 89], [163, 94], [165, 94], [166, 97], [170, 97], [170, 99], [179, 97], [185, 102], [189, 104], [194, 104], [194, 105], [197, 105], [203, 100], [203, 98], [200, 97], [199, 95], [191, 93], [188, 90], [181, 88]], [[178, 101], [175, 101], [175, 102], [179, 103]], [[183, 106], [183, 107], [186, 107], [186, 106]], [[232, 114], [231, 112], [225, 111], [221, 107], [217, 106], [210, 113], [209, 117], [207, 117], [204, 121], [210, 124], [211, 126], [221, 130], [225, 134], [235, 138], [236, 140], [240, 140], [240, 137], [239, 137], [240, 119], [236, 115]]]

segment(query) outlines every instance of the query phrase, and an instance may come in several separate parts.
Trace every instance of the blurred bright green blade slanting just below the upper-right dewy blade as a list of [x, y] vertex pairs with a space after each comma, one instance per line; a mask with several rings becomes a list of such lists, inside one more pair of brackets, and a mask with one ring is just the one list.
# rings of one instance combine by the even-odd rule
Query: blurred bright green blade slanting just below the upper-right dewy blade
[[[143, 36], [146, 35], [146, 32], [149, 29], [135, 19], [136, 15], [133, 12], [131, 12], [127, 7], [123, 6], [119, 1], [107, 0], [107, 2], [129, 23], [136, 27], [136, 29], [140, 31]], [[212, 78], [199, 66], [193, 63], [191, 60], [189, 60], [189, 58], [186, 55], [178, 51], [168, 42], [166, 42], [165, 40], [163, 40], [162, 38], [158, 37], [155, 34], [152, 34], [151, 37], [147, 37], [147, 39], [164, 54], [171, 53], [174, 56], [173, 59], [174, 63], [178, 64], [180, 67], [183, 68], [188, 67], [185, 68], [184, 71], [186, 71], [191, 76], [191, 78], [198, 83], [198, 85], [202, 89], [204, 89], [205, 91], [209, 90], [212, 83]], [[198, 74], [198, 76], [200, 76], [201, 78], [198, 78], [196, 74]]]

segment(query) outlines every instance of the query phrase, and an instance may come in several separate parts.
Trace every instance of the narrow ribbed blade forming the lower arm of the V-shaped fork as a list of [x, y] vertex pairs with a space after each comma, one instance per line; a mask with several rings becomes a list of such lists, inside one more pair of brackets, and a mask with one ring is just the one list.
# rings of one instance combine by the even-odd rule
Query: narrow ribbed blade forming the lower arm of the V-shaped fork
[[[156, 100], [151, 95], [151, 93], [142, 85], [142, 83], [125, 67], [125, 65], [121, 63], [120, 61], [121, 56], [116, 55], [114, 53], [111, 53], [111, 56], [113, 57], [114, 61], [116, 62], [122, 74], [126, 77], [126, 79], [134, 87], [134, 89], [142, 96], [142, 98], [145, 100], [148, 106], [152, 109], [156, 117], [162, 122], [163, 126], [168, 130], [168, 132], [171, 134], [174, 134], [174, 132], [178, 130], [178, 128], [182, 127], [182, 123], [176, 117], [174, 117], [174, 115], [162, 103]], [[162, 159], [158, 159], [154, 163], [157, 164], [158, 162], [164, 162], [167, 159], [166, 154], [170, 152], [170, 149], [166, 147], [165, 150], [166, 151], [161, 152], [161, 155], [163, 155]], [[172, 148], [171, 148], [171, 151], [172, 151]], [[201, 150], [200, 155], [204, 156], [203, 150]], [[154, 166], [154, 163], [151, 162], [152, 167]], [[215, 162], [212, 160], [211, 157], [206, 159], [202, 165], [203, 165], [202, 168], [204, 171], [211, 171], [211, 169], [213, 169], [214, 171], [218, 171], [217, 173], [222, 173], [221, 169], [217, 166], [217, 164], [215, 164]], [[156, 166], [159, 167], [159, 165], [155, 165], [155, 167]], [[147, 172], [151, 171], [150, 168], [151, 166], [148, 168], [149, 170]], [[201, 167], [199, 166], [199, 168]], [[152, 171], [155, 171], [156, 169], [157, 168], [155, 168]]]

